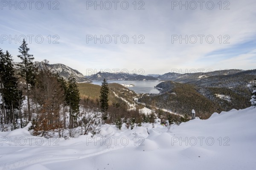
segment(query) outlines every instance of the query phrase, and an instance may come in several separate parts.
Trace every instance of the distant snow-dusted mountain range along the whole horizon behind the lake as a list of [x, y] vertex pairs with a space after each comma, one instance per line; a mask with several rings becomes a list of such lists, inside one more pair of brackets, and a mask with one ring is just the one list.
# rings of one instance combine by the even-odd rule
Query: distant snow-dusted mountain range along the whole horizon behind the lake
[[[17, 69], [17, 62], [13, 62], [15, 68]], [[39, 68], [42, 67], [41, 62], [35, 62]], [[127, 73], [108, 73], [108, 72], [98, 72], [90, 76], [84, 76], [79, 71], [68, 67], [64, 64], [47, 64], [53, 73], [58, 73], [64, 79], [68, 79], [71, 75], [75, 77], [77, 82], [92, 82], [97, 80], [159, 80], [159, 81], [173, 81], [179, 83], [189, 83], [197, 86], [207, 86], [207, 87], [222, 87], [227, 85], [246, 85], [250, 82], [256, 75], [256, 70], [220, 70], [211, 71], [207, 73], [166, 73], [160, 74], [149, 74], [149, 75], [138, 75], [138, 74], [127, 74]], [[231, 86], [232, 86], [231, 85]]]

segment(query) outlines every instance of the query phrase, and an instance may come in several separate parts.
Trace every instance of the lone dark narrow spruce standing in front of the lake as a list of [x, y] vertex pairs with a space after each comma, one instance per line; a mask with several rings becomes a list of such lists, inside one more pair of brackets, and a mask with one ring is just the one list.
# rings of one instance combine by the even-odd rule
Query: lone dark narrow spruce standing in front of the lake
[[108, 82], [106, 79], [103, 79], [102, 87], [100, 88], [100, 96], [99, 96], [99, 101], [101, 103], [100, 105], [101, 111], [104, 112], [102, 114], [103, 121], [108, 119], [108, 115], [106, 113], [108, 110], [108, 93], [109, 93]]

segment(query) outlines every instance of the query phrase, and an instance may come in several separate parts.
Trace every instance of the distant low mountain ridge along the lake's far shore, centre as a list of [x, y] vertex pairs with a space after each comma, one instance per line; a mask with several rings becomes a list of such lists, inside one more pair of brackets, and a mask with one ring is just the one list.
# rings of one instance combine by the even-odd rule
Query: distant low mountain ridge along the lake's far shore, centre
[[138, 74], [127, 74], [127, 73], [108, 73], [108, 72], [99, 72], [97, 74], [93, 74], [87, 79], [91, 81], [96, 81], [96, 80], [157, 80], [155, 77], [150, 77], [150, 76], [143, 76], [143, 75], [138, 75]]

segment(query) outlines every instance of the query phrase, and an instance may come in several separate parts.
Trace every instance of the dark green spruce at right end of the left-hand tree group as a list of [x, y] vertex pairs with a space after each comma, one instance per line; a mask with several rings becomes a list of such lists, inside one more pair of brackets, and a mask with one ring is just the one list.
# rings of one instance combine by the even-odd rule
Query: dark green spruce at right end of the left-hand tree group
[[66, 91], [66, 102], [70, 106], [70, 128], [73, 128], [73, 122], [76, 120], [79, 114], [79, 89], [76, 85], [76, 79], [71, 76], [68, 79], [67, 91]]

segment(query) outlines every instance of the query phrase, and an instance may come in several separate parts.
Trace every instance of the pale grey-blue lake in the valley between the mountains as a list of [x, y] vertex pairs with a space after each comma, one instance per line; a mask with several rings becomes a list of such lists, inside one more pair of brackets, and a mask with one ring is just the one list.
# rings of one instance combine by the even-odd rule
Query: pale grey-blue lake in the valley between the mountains
[[[128, 84], [135, 85], [134, 87], [128, 87], [130, 90], [133, 90], [135, 93], [149, 93], [149, 94], [159, 94], [160, 91], [154, 88], [160, 82], [158, 80], [150, 81], [125, 81], [125, 80], [113, 80], [108, 81], [108, 83], [118, 83], [118, 84]], [[102, 85], [102, 81], [93, 81], [92, 84]]]

